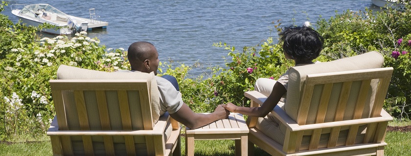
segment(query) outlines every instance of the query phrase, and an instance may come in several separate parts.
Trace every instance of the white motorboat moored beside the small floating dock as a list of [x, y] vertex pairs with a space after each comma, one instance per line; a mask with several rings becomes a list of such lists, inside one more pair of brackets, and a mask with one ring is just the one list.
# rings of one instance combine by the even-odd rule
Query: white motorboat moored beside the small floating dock
[[[13, 8], [19, 6], [21, 9]], [[48, 23], [57, 26], [56, 30], [42, 30], [47, 33], [68, 35], [88, 30], [89, 22], [87, 19], [67, 15], [49, 4], [13, 4], [11, 8], [11, 13], [28, 25], [38, 26]]]

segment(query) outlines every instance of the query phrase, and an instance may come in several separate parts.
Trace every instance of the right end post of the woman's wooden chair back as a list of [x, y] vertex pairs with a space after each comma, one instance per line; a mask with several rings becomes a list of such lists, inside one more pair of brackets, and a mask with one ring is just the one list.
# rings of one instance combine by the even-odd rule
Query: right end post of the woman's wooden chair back
[[384, 99], [388, 91], [389, 81], [391, 80], [391, 75], [389, 75], [388, 78], [381, 78], [380, 82], [378, 83], [378, 90], [375, 94], [374, 106], [371, 110], [371, 117], [379, 117], [381, 114], [381, 110], [383, 109], [384, 105]]

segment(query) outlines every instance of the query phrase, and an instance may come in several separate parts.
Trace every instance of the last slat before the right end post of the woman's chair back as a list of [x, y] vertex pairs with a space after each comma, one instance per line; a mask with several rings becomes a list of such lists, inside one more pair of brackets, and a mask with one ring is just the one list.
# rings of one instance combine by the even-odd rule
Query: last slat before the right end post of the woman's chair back
[[359, 119], [363, 116], [365, 101], [368, 95], [368, 91], [371, 87], [370, 83], [371, 79], [366, 79], [361, 82], [360, 93], [358, 94], [357, 103], [355, 105], [352, 119]]

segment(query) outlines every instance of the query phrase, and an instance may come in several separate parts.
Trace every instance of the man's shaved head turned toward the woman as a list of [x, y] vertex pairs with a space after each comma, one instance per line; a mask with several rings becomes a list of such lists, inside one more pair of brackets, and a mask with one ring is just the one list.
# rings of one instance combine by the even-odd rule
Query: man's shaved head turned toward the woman
[[159, 53], [153, 44], [146, 41], [134, 42], [128, 48], [128, 57], [131, 70], [144, 73], [154, 72], [157, 75], [159, 68]]

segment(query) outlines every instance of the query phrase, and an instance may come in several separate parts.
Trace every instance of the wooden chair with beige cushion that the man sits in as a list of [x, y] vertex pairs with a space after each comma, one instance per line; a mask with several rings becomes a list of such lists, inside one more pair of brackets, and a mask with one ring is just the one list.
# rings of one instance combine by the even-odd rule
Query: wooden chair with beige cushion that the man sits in
[[181, 155], [181, 126], [160, 116], [153, 73], [106, 73], [62, 65], [50, 80], [54, 156]]

